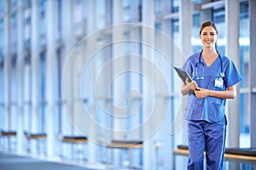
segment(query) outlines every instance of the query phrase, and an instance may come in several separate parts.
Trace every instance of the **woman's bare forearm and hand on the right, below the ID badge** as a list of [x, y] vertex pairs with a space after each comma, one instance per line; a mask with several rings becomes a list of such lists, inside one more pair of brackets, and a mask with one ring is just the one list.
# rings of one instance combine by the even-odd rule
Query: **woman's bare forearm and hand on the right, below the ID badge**
[[206, 88], [199, 88], [199, 91], [195, 91], [195, 95], [199, 99], [204, 99], [207, 96], [212, 96], [221, 99], [235, 99], [236, 98], [236, 86], [231, 86], [224, 91], [208, 90]]

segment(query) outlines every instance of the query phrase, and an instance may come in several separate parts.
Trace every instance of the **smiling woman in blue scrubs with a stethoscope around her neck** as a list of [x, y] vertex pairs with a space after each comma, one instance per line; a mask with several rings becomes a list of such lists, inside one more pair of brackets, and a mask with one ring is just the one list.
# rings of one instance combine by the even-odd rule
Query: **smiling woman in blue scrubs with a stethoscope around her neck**
[[201, 25], [203, 49], [192, 54], [183, 65], [193, 81], [183, 84], [181, 93], [189, 94], [186, 107], [188, 122], [188, 169], [203, 169], [203, 152], [207, 169], [222, 169], [226, 138], [226, 99], [236, 97], [236, 83], [241, 76], [236, 65], [215, 48], [218, 30], [212, 21]]

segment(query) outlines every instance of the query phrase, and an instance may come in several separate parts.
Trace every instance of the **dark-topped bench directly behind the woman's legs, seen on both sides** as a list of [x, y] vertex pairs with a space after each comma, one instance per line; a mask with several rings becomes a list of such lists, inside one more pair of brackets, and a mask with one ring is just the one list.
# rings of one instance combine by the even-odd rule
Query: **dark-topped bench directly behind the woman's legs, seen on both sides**
[[[187, 145], [178, 145], [173, 150], [174, 167], [175, 156], [189, 156], [189, 147]], [[236, 161], [240, 163], [256, 164], [256, 148], [226, 148], [224, 153], [225, 161]]]

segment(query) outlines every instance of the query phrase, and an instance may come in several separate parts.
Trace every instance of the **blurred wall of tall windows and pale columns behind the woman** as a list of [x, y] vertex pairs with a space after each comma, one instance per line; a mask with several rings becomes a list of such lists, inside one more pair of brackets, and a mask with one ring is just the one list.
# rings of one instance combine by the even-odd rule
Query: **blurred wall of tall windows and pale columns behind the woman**
[[172, 65], [201, 51], [206, 20], [243, 78], [227, 105], [226, 146], [255, 148], [255, 8], [253, 0], [0, 0], [0, 151], [95, 168], [186, 168], [188, 158], [172, 152], [187, 144]]

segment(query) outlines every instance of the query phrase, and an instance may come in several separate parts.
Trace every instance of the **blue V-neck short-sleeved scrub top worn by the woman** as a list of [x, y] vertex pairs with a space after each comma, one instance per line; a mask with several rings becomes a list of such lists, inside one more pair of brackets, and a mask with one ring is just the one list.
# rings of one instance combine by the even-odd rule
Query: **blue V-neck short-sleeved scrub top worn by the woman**
[[[199, 62], [201, 52], [192, 54], [183, 65], [183, 70], [188, 71], [192, 79], [197, 82], [199, 88], [207, 88], [210, 90], [226, 90], [241, 81], [241, 76], [236, 69], [233, 61], [220, 54], [222, 59], [224, 71], [224, 83], [222, 88], [214, 87], [215, 79], [219, 77], [221, 72], [221, 61], [219, 57], [209, 67], [201, 57], [201, 62], [204, 64], [204, 78], [202, 80], [196, 79], [195, 65]], [[201, 65], [198, 65], [199, 74]], [[186, 120], [193, 121], [207, 121], [211, 123], [226, 124], [225, 119], [225, 104], [226, 99], [219, 99], [215, 97], [206, 97], [198, 99], [194, 93], [189, 94], [188, 104], [186, 106]]]

